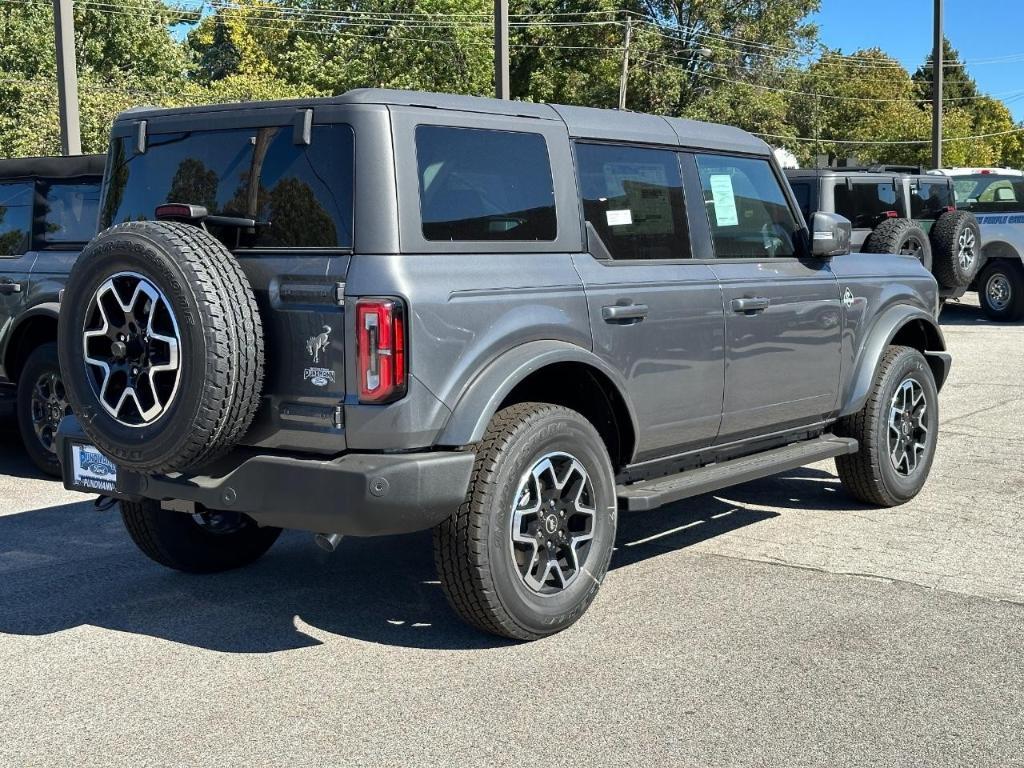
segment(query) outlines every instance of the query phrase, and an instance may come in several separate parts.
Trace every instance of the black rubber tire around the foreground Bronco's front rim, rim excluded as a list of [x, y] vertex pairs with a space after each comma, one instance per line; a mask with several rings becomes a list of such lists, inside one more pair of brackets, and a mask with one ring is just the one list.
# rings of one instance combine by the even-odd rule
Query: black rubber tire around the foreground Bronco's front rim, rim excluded
[[[922, 463], [913, 474], [903, 476], [896, 472], [889, 458], [888, 420], [896, 389], [907, 377], [921, 384], [931, 417]], [[924, 487], [935, 458], [938, 403], [935, 376], [925, 355], [912, 347], [889, 347], [874, 374], [864, 407], [836, 425], [836, 434], [854, 437], [860, 443], [856, 454], [836, 459], [836, 469], [847, 493], [879, 507], [896, 507], [913, 499]]]

